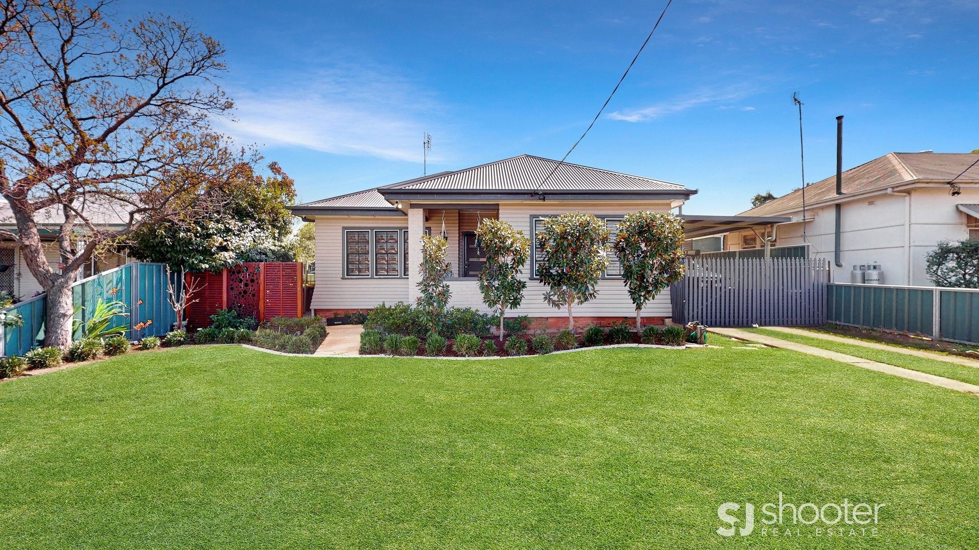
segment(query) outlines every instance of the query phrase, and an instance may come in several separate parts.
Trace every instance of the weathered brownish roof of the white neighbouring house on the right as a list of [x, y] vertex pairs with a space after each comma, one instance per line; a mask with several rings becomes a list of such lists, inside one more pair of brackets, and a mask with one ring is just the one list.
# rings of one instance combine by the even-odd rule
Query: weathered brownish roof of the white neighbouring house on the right
[[[843, 193], [852, 194], [899, 185], [912, 180], [946, 183], [979, 183], [979, 154], [888, 153], [843, 172]], [[836, 175], [806, 187], [806, 203], [836, 196]], [[802, 190], [797, 189], [739, 215], [766, 216], [802, 208]]]

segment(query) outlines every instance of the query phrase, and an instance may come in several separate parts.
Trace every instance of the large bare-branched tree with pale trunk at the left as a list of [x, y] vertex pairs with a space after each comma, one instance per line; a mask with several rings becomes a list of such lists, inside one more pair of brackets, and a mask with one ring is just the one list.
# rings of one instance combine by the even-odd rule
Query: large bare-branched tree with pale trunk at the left
[[[187, 208], [240, 160], [210, 126], [232, 108], [211, 81], [224, 69], [221, 45], [167, 17], [112, 21], [106, 6], [0, 8], [0, 195], [18, 228], [0, 238], [17, 242], [47, 292], [45, 345], [63, 348], [71, 283], [92, 253]], [[117, 225], [99, 222], [105, 208]], [[38, 233], [52, 211], [60, 265], [45, 259]]]

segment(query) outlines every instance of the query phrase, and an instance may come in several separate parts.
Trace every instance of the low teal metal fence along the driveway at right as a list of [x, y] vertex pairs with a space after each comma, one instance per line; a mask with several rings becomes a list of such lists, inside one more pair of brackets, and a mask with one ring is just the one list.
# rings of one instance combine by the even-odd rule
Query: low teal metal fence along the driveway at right
[[832, 283], [826, 320], [979, 344], [979, 289]]

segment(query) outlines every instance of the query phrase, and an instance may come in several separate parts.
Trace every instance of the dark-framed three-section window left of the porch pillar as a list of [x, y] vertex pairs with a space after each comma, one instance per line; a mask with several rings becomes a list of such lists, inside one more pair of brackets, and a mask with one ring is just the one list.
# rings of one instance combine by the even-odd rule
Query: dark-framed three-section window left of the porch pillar
[[344, 277], [404, 277], [408, 266], [408, 230], [344, 229]]

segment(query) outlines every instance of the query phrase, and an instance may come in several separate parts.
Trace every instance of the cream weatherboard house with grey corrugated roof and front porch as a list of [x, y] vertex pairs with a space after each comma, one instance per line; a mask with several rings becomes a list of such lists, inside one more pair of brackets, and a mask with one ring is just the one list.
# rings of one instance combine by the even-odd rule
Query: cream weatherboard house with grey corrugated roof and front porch
[[[536, 265], [536, 234], [541, 220], [569, 211], [590, 212], [616, 223], [636, 210], [670, 211], [695, 190], [667, 181], [578, 164], [521, 155], [471, 168], [442, 172], [349, 195], [291, 206], [315, 223], [316, 274], [311, 308], [330, 316], [370, 309], [382, 301], [414, 301], [418, 296], [418, 243], [423, 233], [444, 234], [452, 264], [450, 305], [489, 311], [477, 277], [484, 258], [475, 238], [480, 220], [509, 222], [532, 239], [524, 276], [530, 281], [523, 304], [510, 315], [546, 318], [552, 326], [567, 322], [567, 313], [543, 300]], [[688, 229], [762, 227], [787, 218], [744, 221], [736, 216], [684, 215]], [[732, 225], [733, 224], [733, 225]], [[598, 297], [576, 305], [576, 321], [604, 322], [634, 315], [613, 252], [598, 284]], [[663, 322], [671, 316], [669, 292], [647, 304], [643, 316]]]

